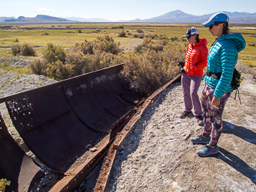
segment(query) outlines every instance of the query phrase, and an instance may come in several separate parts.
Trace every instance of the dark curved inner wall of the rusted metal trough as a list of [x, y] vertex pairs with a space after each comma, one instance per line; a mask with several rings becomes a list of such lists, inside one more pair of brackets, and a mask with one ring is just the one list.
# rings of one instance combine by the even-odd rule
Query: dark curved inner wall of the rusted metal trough
[[[75, 157], [88, 151], [85, 146], [101, 139], [101, 133], [111, 131], [111, 124], [135, 108], [139, 98], [125, 88], [121, 69], [116, 65], [83, 74], [1, 98], [0, 103], [5, 102], [15, 129], [38, 159], [64, 173]], [[12, 190], [18, 191], [26, 155], [13, 143], [2, 119], [0, 123], [0, 178], [11, 180]], [[33, 166], [25, 168], [32, 172]]]

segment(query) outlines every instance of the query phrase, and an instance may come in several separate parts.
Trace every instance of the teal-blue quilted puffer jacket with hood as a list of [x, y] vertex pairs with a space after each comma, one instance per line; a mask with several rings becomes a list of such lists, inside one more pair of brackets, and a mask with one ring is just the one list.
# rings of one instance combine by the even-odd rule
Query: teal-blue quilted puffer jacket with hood
[[221, 78], [204, 76], [204, 83], [214, 88], [214, 97], [221, 98], [224, 92], [231, 92], [233, 70], [238, 61], [238, 52], [245, 48], [245, 40], [239, 33], [221, 35], [212, 45], [208, 55], [207, 68], [212, 73], [221, 73]]

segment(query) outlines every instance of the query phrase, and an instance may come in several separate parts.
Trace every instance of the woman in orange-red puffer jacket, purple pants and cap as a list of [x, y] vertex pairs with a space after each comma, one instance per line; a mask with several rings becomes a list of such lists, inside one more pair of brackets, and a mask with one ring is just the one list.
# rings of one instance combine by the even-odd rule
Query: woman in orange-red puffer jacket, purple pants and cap
[[199, 38], [198, 28], [188, 28], [186, 35], [190, 43], [187, 48], [185, 66], [181, 76], [182, 91], [184, 94], [185, 111], [180, 118], [191, 116], [191, 109], [194, 108], [194, 117], [199, 125], [203, 125], [201, 103], [198, 98], [198, 88], [203, 77], [203, 69], [207, 65], [208, 48], [207, 40]]

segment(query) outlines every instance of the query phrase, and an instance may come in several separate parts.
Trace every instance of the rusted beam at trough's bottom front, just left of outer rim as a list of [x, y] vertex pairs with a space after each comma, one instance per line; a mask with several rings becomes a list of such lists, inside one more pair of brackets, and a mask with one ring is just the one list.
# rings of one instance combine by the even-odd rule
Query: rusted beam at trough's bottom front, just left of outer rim
[[71, 192], [74, 191], [83, 180], [91, 173], [91, 170], [101, 161], [105, 154], [108, 152], [109, 147], [113, 143], [111, 141], [105, 141], [105, 144], [98, 147], [98, 151], [90, 154], [87, 161], [77, 167], [74, 171], [65, 172], [65, 177], [59, 180], [49, 192]]

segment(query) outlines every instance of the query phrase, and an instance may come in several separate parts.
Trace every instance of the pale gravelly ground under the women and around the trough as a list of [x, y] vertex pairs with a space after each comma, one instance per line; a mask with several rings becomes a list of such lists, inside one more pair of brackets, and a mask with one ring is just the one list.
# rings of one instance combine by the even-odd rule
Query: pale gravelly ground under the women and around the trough
[[[244, 79], [241, 104], [232, 93], [224, 110], [219, 154], [196, 154], [202, 146], [193, 145], [190, 138], [201, 134], [203, 127], [194, 118], [178, 118], [184, 110], [179, 82], [151, 102], [122, 142], [105, 191], [256, 191], [256, 72], [241, 63], [237, 68]], [[55, 82], [5, 70], [0, 74], [0, 98]], [[202, 88], [203, 82], [199, 92]], [[8, 119], [5, 105], [0, 111]], [[7, 124], [25, 147], [12, 123]], [[98, 164], [76, 192], [92, 191], [100, 168]]]

